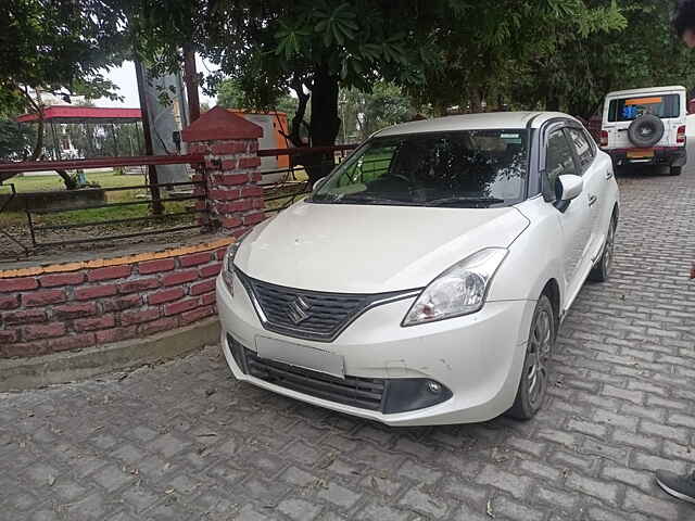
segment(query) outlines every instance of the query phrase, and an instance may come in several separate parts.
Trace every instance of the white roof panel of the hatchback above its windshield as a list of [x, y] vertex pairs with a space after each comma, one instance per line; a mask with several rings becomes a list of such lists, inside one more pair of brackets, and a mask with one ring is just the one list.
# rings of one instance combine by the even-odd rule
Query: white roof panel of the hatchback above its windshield
[[[455, 130], [488, 130], [539, 128], [547, 119], [564, 117], [574, 119], [561, 112], [486, 112], [482, 114], [463, 114], [459, 116], [435, 117], [417, 122], [403, 123], [384, 128], [375, 137], [399, 136], [402, 134], [447, 132]], [[576, 120], [576, 119], [574, 119]]]

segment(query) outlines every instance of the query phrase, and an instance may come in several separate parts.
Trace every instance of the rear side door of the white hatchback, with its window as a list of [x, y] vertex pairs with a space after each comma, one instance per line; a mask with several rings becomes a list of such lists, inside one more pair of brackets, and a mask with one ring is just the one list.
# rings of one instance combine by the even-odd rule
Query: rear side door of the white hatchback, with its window
[[580, 175], [584, 179], [584, 192], [589, 201], [591, 218], [591, 239], [586, 254], [593, 262], [597, 258], [603, 247], [608, 225], [605, 223], [606, 185], [612, 177], [610, 165], [596, 160], [596, 151], [591, 138], [579, 126], [570, 126], [565, 129], [572, 144]]

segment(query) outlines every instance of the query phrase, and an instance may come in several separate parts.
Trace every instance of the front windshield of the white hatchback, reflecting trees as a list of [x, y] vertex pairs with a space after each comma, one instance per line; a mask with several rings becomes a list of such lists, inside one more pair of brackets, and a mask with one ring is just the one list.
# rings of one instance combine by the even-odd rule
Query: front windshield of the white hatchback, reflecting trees
[[486, 207], [516, 203], [527, 179], [527, 130], [375, 138], [340, 165], [314, 203]]

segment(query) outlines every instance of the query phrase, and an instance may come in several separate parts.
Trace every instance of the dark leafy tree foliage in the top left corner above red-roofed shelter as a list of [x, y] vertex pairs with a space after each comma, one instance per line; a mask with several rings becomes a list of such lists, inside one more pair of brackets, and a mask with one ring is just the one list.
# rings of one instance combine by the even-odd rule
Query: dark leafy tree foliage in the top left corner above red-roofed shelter
[[123, 60], [124, 31], [118, 22], [106, 2], [2, 2], [0, 105], [30, 109], [35, 91], [117, 99], [104, 72]]

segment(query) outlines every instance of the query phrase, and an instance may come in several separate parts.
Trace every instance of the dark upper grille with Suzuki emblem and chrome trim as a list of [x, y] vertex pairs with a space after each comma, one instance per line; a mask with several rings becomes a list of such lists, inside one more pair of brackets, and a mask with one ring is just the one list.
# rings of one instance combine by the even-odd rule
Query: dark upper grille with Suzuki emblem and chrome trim
[[298, 290], [252, 279], [240, 271], [237, 274], [253, 296], [265, 329], [319, 342], [333, 341], [369, 307], [414, 295], [413, 290], [379, 294]]

